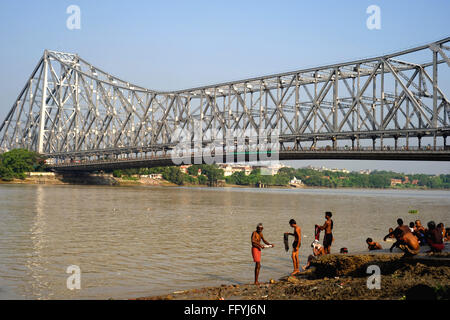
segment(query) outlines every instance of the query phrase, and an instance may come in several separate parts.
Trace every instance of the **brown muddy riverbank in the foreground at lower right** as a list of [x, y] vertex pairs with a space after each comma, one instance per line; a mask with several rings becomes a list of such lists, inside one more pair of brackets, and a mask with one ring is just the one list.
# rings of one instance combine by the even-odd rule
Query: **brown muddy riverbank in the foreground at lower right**
[[[367, 287], [367, 267], [381, 270], [380, 289]], [[264, 269], [264, 266], [262, 267]], [[262, 271], [263, 272], [263, 271]], [[450, 298], [450, 253], [333, 254], [297, 275], [253, 284], [222, 285], [137, 300], [404, 300]]]

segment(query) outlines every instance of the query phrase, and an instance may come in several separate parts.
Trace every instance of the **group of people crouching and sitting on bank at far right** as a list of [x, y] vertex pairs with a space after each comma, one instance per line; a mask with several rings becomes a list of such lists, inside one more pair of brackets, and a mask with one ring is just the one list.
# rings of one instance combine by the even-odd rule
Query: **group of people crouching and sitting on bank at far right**
[[[391, 252], [397, 247], [406, 255], [416, 255], [420, 252], [420, 247], [425, 245], [430, 247], [430, 252], [441, 252], [445, 247], [444, 241], [449, 241], [449, 228], [445, 229], [442, 222], [436, 225], [434, 221], [429, 221], [427, 227], [425, 228], [420, 220], [410, 222], [407, 226], [403, 224], [403, 219], [398, 218], [397, 227], [390, 228], [383, 240], [395, 241], [389, 249]], [[367, 238], [366, 243], [369, 250], [382, 249], [381, 245], [371, 238]]]

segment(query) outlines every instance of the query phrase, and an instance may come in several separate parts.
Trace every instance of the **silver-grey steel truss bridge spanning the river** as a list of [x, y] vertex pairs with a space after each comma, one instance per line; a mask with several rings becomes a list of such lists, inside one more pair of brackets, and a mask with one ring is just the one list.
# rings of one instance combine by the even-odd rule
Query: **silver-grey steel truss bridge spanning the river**
[[37, 151], [61, 171], [166, 165], [181, 129], [200, 149], [222, 139], [220, 162], [236, 160], [239, 147], [248, 160], [248, 142], [236, 141], [267, 141], [251, 129], [277, 131], [280, 160], [448, 161], [449, 42], [180, 91], [46, 50], [1, 123], [0, 152]]

